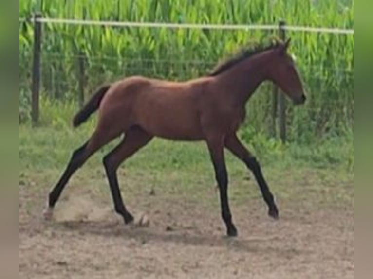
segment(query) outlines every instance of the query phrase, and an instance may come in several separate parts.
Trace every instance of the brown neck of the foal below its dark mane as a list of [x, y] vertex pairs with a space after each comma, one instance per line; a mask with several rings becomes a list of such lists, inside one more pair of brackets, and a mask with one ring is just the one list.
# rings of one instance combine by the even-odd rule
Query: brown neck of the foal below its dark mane
[[244, 105], [261, 83], [268, 80], [269, 59], [267, 51], [239, 62], [216, 77], [219, 88], [226, 90], [237, 104]]

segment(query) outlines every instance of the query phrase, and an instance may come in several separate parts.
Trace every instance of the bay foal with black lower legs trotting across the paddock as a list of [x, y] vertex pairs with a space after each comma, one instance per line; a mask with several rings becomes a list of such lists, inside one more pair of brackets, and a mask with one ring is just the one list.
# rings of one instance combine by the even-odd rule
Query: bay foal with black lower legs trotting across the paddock
[[116, 171], [119, 165], [154, 137], [168, 140], [203, 140], [215, 171], [221, 215], [228, 236], [237, 236], [228, 203], [228, 175], [224, 148], [241, 159], [254, 174], [268, 214], [279, 218], [274, 196], [256, 157], [236, 133], [245, 118], [245, 105], [263, 81], [271, 81], [297, 105], [306, 95], [291, 55], [290, 39], [247, 48], [219, 63], [203, 77], [171, 82], [131, 76], [101, 86], [75, 115], [74, 127], [98, 110], [98, 122], [91, 138], [73, 152], [56, 186], [49, 194], [46, 215], [53, 208], [75, 171], [104, 145], [124, 134], [123, 140], [103, 158], [115, 212], [125, 224], [133, 221], [119, 191]]

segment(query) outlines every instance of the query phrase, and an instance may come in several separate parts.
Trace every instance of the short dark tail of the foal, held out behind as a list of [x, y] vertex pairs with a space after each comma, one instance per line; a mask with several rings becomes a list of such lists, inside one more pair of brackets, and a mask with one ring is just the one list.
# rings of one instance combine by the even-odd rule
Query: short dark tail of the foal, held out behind
[[109, 88], [110, 88], [110, 85], [101, 86], [93, 94], [92, 98], [88, 101], [88, 103], [85, 104], [83, 108], [75, 114], [74, 119], [73, 119], [74, 127], [77, 127], [81, 123], [85, 122], [90, 117], [90, 115], [98, 109], [102, 98], [104, 98]]

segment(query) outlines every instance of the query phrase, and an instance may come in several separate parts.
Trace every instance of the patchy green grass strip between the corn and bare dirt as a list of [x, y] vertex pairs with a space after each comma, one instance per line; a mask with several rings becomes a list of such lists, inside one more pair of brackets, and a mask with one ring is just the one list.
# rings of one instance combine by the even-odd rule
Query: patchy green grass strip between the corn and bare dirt
[[[58, 128], [20, 125], [20, 187], [35, 187], [46, 194], [65, 168], [72, 151], [89, 137], [92, 125], [88, 123], [77, 130], [67, 124]], [[110, 200], [101, 159], [116, 142], [118, 140], [95, 154], [75, 174], [71, 187], [85, 187]], [[354, 157], [351, 143], [330, 140], [318, 147], [289, 145], [279, 149], [274, 146], [276, 144], [262, 143], [254, 152], [280, 203], [294, 202], [312, 207], [354, 205], [353, 162], [347, 163], [349, 156]], [[346, 151], [348, 148], [352, 150]], [[330, 157], [332, 155], [335, 157]], [[232, 203], [245, 204], [252, 199], [261, 199], [253, 176], [242, 162], [226, 153], [226, 163]], [[203, 142], [155, 139], [126, 161], [118, 173], [121, 188], [130, 200], [154, 189], [161, 195], [170, 195], [174, 201], [183, 199], [216, 206], [213, 190], [216, 182]]]

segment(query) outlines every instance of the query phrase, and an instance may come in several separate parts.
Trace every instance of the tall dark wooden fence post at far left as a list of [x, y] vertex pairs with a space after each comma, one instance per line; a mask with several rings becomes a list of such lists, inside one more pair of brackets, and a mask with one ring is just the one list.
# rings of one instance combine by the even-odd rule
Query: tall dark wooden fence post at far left
[[34, 125], [39, 122], [39, 90], [40, 90], [40, 49], [41, 49], [41, 23], [40, 14], [34, 15], [34, 55], [32, 70], [32, 96], [31, 118]]

